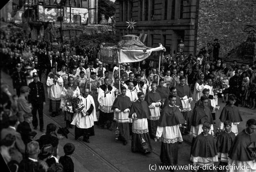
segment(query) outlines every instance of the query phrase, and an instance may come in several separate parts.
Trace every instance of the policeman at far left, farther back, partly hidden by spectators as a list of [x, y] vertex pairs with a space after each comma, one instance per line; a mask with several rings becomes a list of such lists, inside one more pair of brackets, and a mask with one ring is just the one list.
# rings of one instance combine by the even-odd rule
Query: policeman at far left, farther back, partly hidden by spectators
[[22, 86], [27, 86], [27, 79], [25, 73], [21, 71], [20, 63], [16, 65], [16, 69], [17, 71], [13, 72], [12, 74], [12, 83], [14, 90], [16, 90], [16, 94], [20, 96], [20, 88]]

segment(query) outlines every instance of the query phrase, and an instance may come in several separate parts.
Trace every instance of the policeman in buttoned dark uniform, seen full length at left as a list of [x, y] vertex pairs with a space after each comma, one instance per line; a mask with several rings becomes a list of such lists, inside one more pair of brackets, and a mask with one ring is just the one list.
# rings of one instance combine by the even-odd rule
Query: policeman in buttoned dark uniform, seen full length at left
[[32, 76], [33, 76], [33, 82], [29, 83], [28, 85], [28, 87], [30, 88], [28, 101], [33, 106], [32, 124], [34, 126], [34, 129], [37, 129], [38, 122], [37, 122], [36, 113], [38, 111], [40, 131], [43, 131], [44, 130], [43, 107], [45, 106], [44, 85], [43, 85], [43, 82], [38, 81], [37, 72], [33, 72]]

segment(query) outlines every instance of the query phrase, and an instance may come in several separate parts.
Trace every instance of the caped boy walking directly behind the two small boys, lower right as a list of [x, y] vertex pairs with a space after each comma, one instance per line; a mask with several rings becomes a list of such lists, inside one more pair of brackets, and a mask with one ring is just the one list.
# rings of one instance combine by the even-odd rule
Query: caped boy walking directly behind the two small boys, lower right
[[220, 114], [220, 129], [224, 130], [223, 123], [226, 120], [231, 121], [232, 122], [231, 131], [235, 133], [235, 135], [237, 135], [238, 134], [237, 124], [243, 121], [243, 119], [241, 117], [239, 108], [234, 105], [236, 103], [236, 96], [234, 94], [229, 95], [228, 102], [229, 104], [222, 109], [222, 112]]

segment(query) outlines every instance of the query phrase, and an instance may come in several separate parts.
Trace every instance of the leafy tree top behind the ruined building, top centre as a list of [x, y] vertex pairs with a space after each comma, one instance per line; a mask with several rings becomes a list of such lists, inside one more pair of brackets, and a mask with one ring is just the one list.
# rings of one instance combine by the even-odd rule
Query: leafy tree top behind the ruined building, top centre
[[101, 20], [101, 14], [105, 14], [105, 19], [116, 13], [115, 3], [110, 0], [98, 0], [98, 23]]

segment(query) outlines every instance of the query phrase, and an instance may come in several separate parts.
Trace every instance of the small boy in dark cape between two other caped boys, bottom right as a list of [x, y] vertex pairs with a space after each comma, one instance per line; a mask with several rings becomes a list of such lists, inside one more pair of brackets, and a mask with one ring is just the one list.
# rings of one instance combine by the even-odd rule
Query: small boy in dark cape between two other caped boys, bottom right
[[224, 131], [221, 132], [220, 137], [217, 140], [216, 147], [218, 152], [218, 158], [220, 160], [218, 172], [225, 172], [226, 166], [228, 165], [228, 152], [231, 148], [231, 145], [236, 137], [235, 133], [230, 131], [232, 128], [231, 121], [224, 122]]

